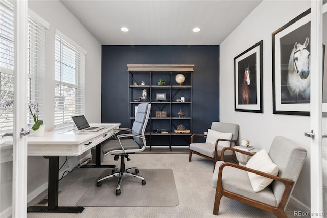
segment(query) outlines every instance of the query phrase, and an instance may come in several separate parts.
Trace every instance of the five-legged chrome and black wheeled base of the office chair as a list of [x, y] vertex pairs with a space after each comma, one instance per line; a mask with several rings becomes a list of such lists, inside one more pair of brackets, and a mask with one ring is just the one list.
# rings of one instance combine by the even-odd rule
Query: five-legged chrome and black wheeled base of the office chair
[[[130, 160], [128, 158], [128, 155], [124, 154], [124, 155], [119, 155], [119, 156], [121, 156], [121, 168], [120, 169], [118, 169], [118, 168], [112, 169], [112, 171], [111, 171], [111, 173], [109, 175], [106, 175], [106, 176], [103, 176], [103, 177], [99, 178], [97, 180], [97, 182], [96, 182], [97, 187], [100, 187], [102, 185], [101, 181], [112, 178], [112, 177], [115, 177], [115, 176], [118, 176], [118, 182], [117, 182], [117, 185], [116, 185], [116, 195], [117, 196], [122, 193], [120, 188], [121, 188], [123, 177], [125, 175], [130, 175], [130, 176], [139, 178], [139, 179], [141, 179], [142, 185], [146, 184], [146, 181], [145, 181], [144, 177], [138, 175], [139, 170], [138, 170], [137, 167], [131, 167], [131, 168], [125, 169], [125, 158], [127, 158], [127, 160]], [[135, 170], [135, 173], [129, 172], [129, 170]]]

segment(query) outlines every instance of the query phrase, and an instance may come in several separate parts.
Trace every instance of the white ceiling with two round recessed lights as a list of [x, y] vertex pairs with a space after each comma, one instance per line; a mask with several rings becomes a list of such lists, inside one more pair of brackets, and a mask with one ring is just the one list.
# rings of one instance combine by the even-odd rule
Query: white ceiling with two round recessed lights
[[[60, 0], [102, 45], [220, 45], [262, 0]], [[120, 29], [127, 27], [128, 32]], [[192, 32], [198, 27], [200, 32]]]

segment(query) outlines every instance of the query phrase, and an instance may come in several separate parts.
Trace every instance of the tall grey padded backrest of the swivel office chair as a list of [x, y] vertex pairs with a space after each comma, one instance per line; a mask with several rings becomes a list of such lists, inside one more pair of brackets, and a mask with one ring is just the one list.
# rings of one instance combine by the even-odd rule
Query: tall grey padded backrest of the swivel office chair
[[[132, 126], [132, 132], [144, 137], [144, 132], [150, 116], [151, 104], [142, 103], [138, 105], [135, 120]], [[138, 137], [133, 137], [135, 142], [141, 147], [146, 145], [146, 140]]]

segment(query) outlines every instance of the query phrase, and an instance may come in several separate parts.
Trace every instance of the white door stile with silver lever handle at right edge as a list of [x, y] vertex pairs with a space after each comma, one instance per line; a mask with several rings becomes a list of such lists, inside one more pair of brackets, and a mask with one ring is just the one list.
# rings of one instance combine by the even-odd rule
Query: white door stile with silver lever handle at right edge
[[[323, 53], [326, 53], [322, 45], [327, 45], [327, 35], [325, 33], [327, 30], [326, 27], [323, 30], [322, 25], [323, 23], [327, 24], [327, 21], [325, 21], [327, 12], [323, 14], [323, 8], [326, 11], [326, 6], [327, 4], [322, 6], [322, 0], [311, 0], [311, 132], [306, 133], [306, 135], [312, 138], [309, 152], [311, 165], [310, 215], [312, 217], [323, 217], [327, 214], [327, 139], [323, 139], [323, 133], [327, 133], [327, 117], [325, 116], [326, 113], [324, 113], [327, 112], [327, 107], [325, 107], [327, 95], [322, 93], [324, 82], [321, 82], [327, 79], [327, 73], [324, 76], [322, 73]], [[326, 63], [324, 64], [326, 66]], [[324, 68], [324, 72], [327, 72], [326, 68]], [[324, 85], [324, 93], [327, 93], [327, 85]]]

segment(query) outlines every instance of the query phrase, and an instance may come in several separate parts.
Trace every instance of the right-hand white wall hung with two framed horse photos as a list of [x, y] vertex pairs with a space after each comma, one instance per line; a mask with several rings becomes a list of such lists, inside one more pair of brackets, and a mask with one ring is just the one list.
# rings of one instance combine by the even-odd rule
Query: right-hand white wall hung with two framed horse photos
[[[306, 148], [308, 156], [293, 192], [293, 202], [310, 207], [310, 117], [272, 113], [271, 34], [310, 8], [310, 1], [264, 0], [220, 45], [220, 121], [240, 125], [239, 140], [249, 139], [259, 149], [285, 136]], [[234, 111], [234, 57], [263, 40], [263, 114]], [[295, 199], [294, 199], [295, 198]], [[303, 205], [302, 205], [303, 204]], [[306, 207], [307, 206], [307, 207]]]

